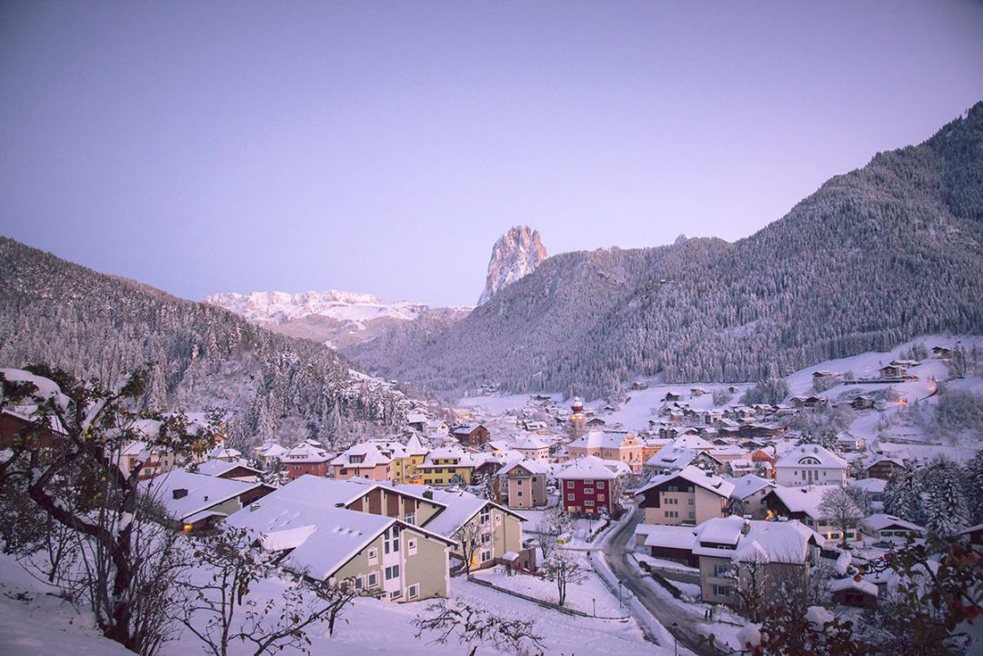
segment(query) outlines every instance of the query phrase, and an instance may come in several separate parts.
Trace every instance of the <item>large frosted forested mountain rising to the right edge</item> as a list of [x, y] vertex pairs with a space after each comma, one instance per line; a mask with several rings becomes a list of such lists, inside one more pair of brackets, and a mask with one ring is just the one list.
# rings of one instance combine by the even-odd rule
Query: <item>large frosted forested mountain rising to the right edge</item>
[[978, 103], [746, 239], [553, 255], [442, 332], [350, 355], [454, 391], [597, 397], [635, 375], [759, 380], [915, 335], [983, 333], [981, 245]]

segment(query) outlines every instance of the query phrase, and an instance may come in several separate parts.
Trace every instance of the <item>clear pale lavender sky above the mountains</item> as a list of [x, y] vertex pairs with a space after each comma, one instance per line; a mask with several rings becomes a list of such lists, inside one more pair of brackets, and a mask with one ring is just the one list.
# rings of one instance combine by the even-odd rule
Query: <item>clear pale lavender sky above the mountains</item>
[[177, 296], [474, 303], [733, 241], [983, 100], [983, 3], [0, 0], [0, 234]]

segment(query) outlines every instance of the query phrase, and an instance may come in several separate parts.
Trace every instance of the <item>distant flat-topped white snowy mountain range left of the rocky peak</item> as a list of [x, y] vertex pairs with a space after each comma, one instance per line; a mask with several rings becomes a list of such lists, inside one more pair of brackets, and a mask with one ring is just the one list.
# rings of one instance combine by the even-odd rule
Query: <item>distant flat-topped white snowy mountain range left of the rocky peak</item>
[[399, 324], [422, 316], [453, 322], [467, 316], [471, 307], [431, 308], [422, 303], [384, 303], [369, 294], [352, 292], [253, 292], [214, 294], [204, 302], [239, 314], [270, 330], [321, 342], [345, 350], [395, 330]]

